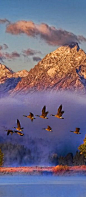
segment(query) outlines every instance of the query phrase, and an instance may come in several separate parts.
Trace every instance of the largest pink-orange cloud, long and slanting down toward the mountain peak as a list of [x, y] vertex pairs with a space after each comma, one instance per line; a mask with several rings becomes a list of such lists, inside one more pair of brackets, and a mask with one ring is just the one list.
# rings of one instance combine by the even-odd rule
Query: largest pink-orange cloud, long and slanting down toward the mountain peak
[[72, 32], [57, 29], [45, 23], [35, 24], [33, 21], [21, 20], [7, 24], [6, 32], [13, 35], [26, 34], [34, 38], [39, 36], [47, 44], [53, 46], [61, 46], [70, 42], [86, 42], [86, 38], [82, 35], [77, 36]]

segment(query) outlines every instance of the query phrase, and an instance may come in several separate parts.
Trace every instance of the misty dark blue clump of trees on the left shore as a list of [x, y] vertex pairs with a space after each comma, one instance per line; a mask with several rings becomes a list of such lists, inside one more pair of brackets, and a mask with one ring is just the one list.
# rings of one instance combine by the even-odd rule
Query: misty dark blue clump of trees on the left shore
[[2, 150], [0, 152], [0, 163], [3, 160], [2, 154], [4, 155], [4, 162], [1, 163], [3, 166], [26, 166], [39, 161], [37, 153], [24, 145], [2, 143], [0, 144], [0, 150]]

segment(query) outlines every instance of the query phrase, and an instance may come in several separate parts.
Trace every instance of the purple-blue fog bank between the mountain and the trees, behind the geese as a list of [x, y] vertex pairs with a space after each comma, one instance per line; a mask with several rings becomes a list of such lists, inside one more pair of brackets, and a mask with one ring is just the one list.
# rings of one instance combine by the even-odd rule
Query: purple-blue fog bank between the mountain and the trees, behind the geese
[[[56, 114], [59, 105], [63, 105], [64, 119], [57, 119], [50, 116]], [[34, 115], [41, 115], [43, 106], [49, 111], [48, 119], [30, 119], [23, 117], [32, 112]], [[24, 136], [16, 133], [8, 135], [5, 129], [16, 127], [16, 120], [19, 119], [24, 127]], [[53, 132], [42, 128], [50, 125]], [[80, 128], [80, 135], [71, 133], [70, 130]], [[86, 133], [86, 95], [73, 92], [42, 92], [23, 96], [7, 96], [0, 99], [0, 143], [12, 143], [24, 145], [34, 155], [40, 157], [40, 163], [47, 163], [50, 154], [66, 155], [75, 152], [78, 146], [83, 143]], [[9, 149], [9, 152], [11, 149]]]

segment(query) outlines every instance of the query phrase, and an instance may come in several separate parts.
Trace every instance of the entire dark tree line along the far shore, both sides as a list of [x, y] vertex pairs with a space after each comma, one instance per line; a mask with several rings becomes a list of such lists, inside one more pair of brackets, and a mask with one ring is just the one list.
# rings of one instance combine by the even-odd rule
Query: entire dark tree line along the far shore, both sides
[[[58, 153], [47, 153], [47, 163], [50, 165], [86, 165], [86, 136], [84, 143], [78, 147], [76, 154], [68, 153], [66, 156], [58, 156]], [[43, 149], [37, 142], [31, 140], [30, 148], [21, 144], [0, 144], [0, 166], [26, 166], [38, 165], [43, 158]], [[46, 159], [46, 158], [45, 158]], [[45, 163], [44, 163], [45, 164]]]

